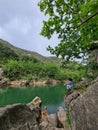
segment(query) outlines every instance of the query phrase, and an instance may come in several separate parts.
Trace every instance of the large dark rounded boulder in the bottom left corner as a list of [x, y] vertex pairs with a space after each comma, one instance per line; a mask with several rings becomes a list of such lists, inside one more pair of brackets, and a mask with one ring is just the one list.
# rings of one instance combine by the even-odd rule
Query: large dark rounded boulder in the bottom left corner
[[13, 104], [0, 108], [0, 130], [39, 130], [40, 108]]

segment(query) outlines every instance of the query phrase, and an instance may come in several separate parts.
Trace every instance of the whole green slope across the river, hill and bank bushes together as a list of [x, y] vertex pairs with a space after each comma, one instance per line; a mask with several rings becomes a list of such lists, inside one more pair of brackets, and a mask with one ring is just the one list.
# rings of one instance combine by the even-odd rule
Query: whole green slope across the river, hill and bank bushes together
[[82, 64], [70, 62], [62, 66], [60, 62], [59, 58], [43, 57], [0, 40], [0, 65], [4, 76], [10, 80], [66, 80], [72, 77], [78, 81], [85, 77], [86, 67]]

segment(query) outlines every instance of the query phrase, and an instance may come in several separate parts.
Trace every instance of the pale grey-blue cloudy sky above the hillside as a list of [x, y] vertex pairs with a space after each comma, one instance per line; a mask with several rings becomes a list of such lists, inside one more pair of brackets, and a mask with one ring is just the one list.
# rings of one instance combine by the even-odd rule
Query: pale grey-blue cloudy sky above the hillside
[[48, 45], [58, 44], [57, 36], [50, 40], [40, 35], [46, 19], [40, 12], [40, 0], [0, 0], [0, 39], [43, 56], [51, 56]]

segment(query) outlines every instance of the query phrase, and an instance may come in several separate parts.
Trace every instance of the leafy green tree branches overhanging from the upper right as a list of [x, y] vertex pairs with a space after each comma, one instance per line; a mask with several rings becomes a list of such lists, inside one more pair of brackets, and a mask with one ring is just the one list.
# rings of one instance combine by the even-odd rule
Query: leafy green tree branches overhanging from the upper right
[[38, 6], [49, 17], [41, 35], [50, 39], [56, 33], [60, 39], [55, 48], [48, 46], [52, 54], [69, 60], [98, 48], [93, 42], [98, 40], [98, 0], [40, 0]]

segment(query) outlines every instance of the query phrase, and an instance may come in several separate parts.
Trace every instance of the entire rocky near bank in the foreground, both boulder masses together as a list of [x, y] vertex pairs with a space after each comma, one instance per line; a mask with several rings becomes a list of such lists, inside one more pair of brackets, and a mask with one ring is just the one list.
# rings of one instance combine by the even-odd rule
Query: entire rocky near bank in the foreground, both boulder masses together
[[[87, 92], [74, 91], [64, 96], [65, 111], [59, 107], [48, 113], [42, 101], [35, 97], [28, 104], [13, 104], [0, 108], [0, 130], [97, 130], [98, 129], [98, 78]], [[69, 113], [70, 125], [66, 123]]]

